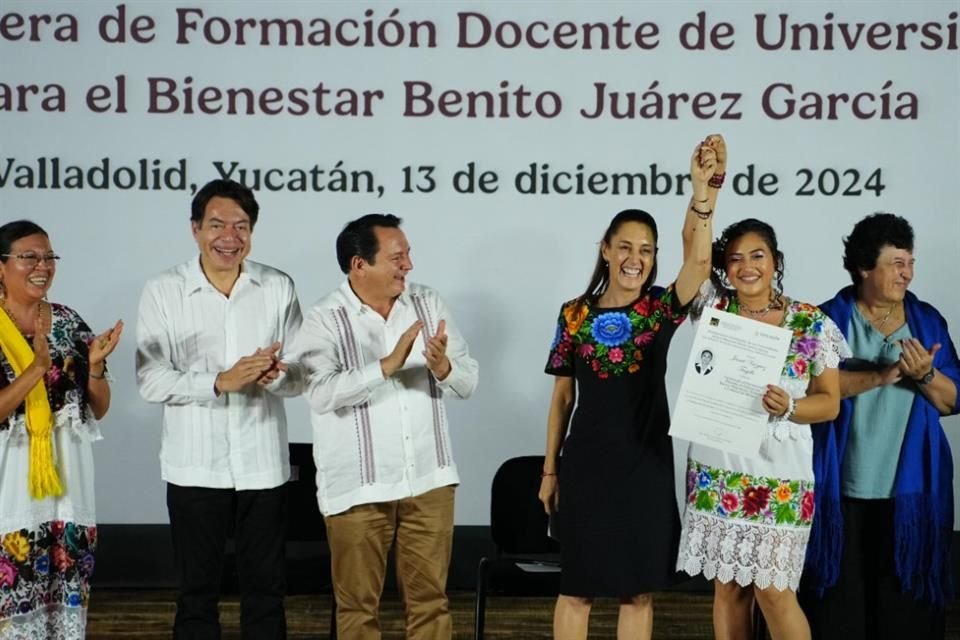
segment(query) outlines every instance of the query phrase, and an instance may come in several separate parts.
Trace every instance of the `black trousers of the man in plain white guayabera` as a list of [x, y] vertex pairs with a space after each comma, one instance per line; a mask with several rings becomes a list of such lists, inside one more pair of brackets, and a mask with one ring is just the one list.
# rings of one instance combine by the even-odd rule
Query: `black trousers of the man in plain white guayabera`
[[240, 637], [286, 638], [286, 486], [235, 491], [168, 483], [167, 509], [180, 578], [174, 639], [220, 638], [217, 604], [231, 528], [240, 579]]

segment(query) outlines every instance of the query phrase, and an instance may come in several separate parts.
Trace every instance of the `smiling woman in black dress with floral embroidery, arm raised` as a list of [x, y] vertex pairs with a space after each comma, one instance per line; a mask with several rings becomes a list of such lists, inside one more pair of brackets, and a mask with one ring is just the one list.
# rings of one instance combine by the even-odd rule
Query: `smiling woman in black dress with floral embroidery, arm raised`
[[604, 233], [587, 290], [561, 309], [546, 367], [555, 381], [540, 487], [561, 546], [556, 638], [586, 638], [592, 599], [602, 596], [620, 601], [618, 637], [649, 638], [650, 592], [676, 575], [680, 522], [666, 355], [710, 272], [712, 213], [725, 165], [720, 136], [697, 145], [684, 262], [673, 284], [654, 285], [653, 217], [628, 209]]

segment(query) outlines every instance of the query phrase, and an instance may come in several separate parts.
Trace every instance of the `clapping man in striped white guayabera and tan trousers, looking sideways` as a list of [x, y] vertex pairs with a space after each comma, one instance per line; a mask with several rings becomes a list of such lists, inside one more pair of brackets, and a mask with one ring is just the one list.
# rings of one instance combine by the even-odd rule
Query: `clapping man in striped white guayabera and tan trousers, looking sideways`
[[477, 386], [477, 362], [436, 291], [408, 283], [400, 219], [371, 214], [337, 237], [347, 275], [304, 318], [296, 344], [312, 410], [317, 497], [345, 638], [380, 638], [395, 541], [407, 638], [452, 636], [446, 596], [453, 462], [444, 398]]

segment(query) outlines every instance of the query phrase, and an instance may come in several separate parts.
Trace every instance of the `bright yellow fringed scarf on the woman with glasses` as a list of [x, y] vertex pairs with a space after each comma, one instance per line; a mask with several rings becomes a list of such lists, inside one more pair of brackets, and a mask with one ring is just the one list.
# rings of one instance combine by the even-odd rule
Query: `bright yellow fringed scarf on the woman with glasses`
[[[17, 376], [33, 362], [33, 349], [4, 309], [0, 309], [0, 347]], [[25, 402], [30, 435], [30, 495], [35, 500], [61, 496], [63, 485], [53, 463], [53, 414], [43, 379], [30, 389]]]

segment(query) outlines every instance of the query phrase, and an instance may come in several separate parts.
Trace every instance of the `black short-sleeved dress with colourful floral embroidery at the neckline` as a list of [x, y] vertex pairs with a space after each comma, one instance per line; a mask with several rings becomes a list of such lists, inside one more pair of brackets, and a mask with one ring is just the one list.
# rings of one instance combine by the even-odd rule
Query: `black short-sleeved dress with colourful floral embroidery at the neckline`
[[577, 407], [559, 465], [561, 593], [629, 597], [672, 584], [680, 537], [664, 376], [686, 308], [673, 287], [633, 304], [568, 302], [546, 372]]

